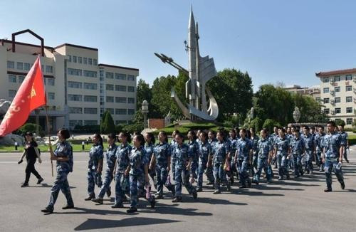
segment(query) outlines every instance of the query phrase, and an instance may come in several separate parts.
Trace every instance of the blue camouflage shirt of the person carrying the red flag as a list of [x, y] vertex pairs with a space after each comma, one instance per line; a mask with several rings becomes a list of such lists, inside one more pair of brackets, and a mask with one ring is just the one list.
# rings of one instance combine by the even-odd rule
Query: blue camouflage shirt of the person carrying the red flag
[[55, 157], [68, 157], [68, 161], [57, 160], [57, 168], [68, 170], [68, 172], [73, 172], [73, 148], [69, 142], [59, 142], [56, 149], [53, 151]]

